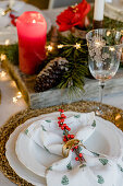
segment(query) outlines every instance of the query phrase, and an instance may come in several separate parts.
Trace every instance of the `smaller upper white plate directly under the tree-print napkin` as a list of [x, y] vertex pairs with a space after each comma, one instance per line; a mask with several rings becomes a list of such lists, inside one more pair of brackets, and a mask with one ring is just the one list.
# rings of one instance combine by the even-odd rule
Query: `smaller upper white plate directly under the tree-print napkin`
[[[76, 113], [70, 112], [66, 116], [75, 115]], [[52, 114], [51, 114], [52, 116]], [[58, 113], [53, 113], [54, 119]], [[45, 118], [49, 119], [48, 115]], [[121, 154], [120, 141], [115, 130], [112, 130], [112, 124], [96, 117], [97, 128], [93, 136], [85, 142], [87, 149], [106, 154], [108, 156], [118, 158]], [[34, 131], [34, 136], [36, 130]], [[98, 142], [97, 142], [98, 139]], [[32, 172], [39, 176], [45, 177], [46, 168], [49, 167], [54, 161], [60, 160], [58, 155], [51, 155], [42, 148], [38, 147], [28, 136], [21, 132], [15, 148], [19, 160]]]

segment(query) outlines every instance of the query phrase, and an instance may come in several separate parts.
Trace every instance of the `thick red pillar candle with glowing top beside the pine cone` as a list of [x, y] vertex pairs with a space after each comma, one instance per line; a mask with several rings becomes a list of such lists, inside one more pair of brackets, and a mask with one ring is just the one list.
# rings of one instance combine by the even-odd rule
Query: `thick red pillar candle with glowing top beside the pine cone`
[[24, 12], [16, 21], [20, 69], [34, 74], [46, 58], [47, 23], [39, 12]]

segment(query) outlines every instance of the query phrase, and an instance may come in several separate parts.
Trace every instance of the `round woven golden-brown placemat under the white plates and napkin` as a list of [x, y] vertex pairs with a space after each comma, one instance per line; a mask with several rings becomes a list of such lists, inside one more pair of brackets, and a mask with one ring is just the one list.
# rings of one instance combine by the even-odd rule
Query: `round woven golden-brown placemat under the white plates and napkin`
[[[86, 113], [93, 111], [95, 106], [98, 106], [99, 103], [95, 102], [78, 102], [69, 105], [63, 105], [62, 108], [64, 111], [73, 111]], [[61, 106], [52, 106], [48, 108], [41, 109], [25, 109], [13, 117], [11, 117], [3, 127], [0, 128], [0, 170], [3, 174], [13, 183], [21, 186], [30, 186], [32, 184], [27, 183], [23, 178], [21, 178], [9, 165], [9, 162], [5, 158], [5, 143], [10, 137], [10, 135], [15, 130], [15, 128], [20, 125], [23, 125], [27, 119], [32, 117], [39, 116], [41, 114], [48, 114], [52, 112], [58, 112]], [[107, 120], [115, 124], [123, 131], [123, 111], [113, 106], [102, 104], [103, 108], [103, 117]]]

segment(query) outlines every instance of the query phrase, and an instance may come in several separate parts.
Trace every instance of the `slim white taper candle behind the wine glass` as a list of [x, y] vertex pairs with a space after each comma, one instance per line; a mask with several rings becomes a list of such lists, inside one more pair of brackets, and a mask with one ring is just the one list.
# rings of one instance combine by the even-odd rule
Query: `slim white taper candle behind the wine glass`
[[102, 21], [104, 11], [104, 0], [95, 0], [94, 20]]

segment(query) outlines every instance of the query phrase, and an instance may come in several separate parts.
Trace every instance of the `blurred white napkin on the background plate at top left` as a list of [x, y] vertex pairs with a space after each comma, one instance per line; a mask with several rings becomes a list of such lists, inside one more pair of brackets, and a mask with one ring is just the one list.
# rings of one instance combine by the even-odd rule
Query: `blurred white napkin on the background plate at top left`
[[[10, 19], [10, 12], [7, 13], [7, 15], [3, 15], [2, 16], [2, 12], [7, 9], [7, 5], [8, 5], [9, 1], [2, 1], [0, 2], [0, 27], [5, 27], [8, 25], [11, 24], [11, 19]], [[20, 11], [21, 9], [23, 9], [24, 7], [24, 2], [22, 1], [15, 1], [12, 10], [15, 11], [15, 13], [17, 13], [17, 11]]]

